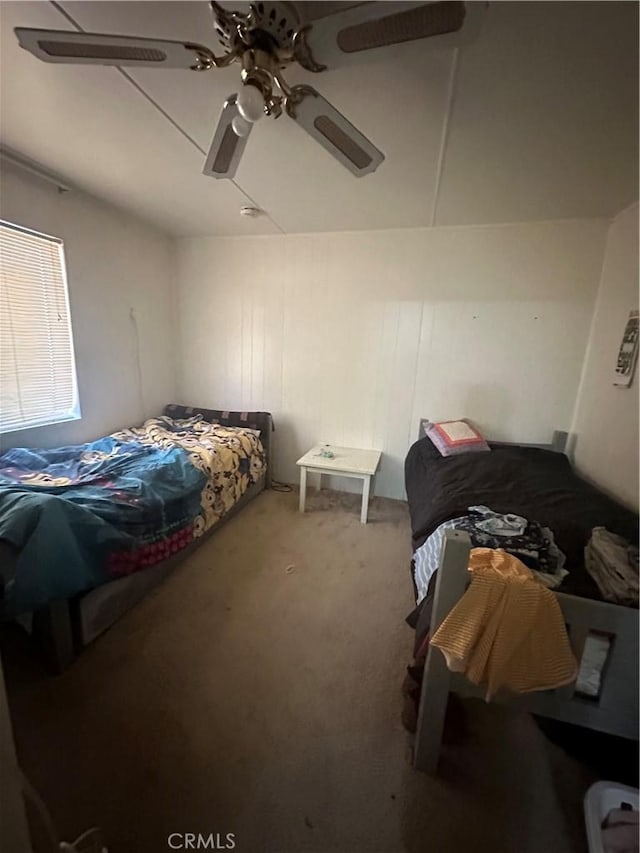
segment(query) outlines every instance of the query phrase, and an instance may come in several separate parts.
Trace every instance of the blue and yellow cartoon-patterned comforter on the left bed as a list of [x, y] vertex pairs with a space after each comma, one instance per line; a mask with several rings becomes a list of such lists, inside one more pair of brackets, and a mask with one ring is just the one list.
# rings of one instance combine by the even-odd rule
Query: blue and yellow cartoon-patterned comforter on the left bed
[[259, 433], [152, 418], [88, 444], [0, 456], [0, 540], [18, 550], [15, 616], [160, 562], [264, 474]]

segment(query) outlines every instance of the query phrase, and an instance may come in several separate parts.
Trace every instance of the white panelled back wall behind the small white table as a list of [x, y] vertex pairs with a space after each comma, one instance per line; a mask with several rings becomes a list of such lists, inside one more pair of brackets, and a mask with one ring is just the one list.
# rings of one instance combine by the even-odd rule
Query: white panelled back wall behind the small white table
[[182, 401], [272, 411], [289, 482], [315, 442], [378, 448], [390, 497], [422, 416], [549, 440], [570, 427], [607, 224], [180, 240]]

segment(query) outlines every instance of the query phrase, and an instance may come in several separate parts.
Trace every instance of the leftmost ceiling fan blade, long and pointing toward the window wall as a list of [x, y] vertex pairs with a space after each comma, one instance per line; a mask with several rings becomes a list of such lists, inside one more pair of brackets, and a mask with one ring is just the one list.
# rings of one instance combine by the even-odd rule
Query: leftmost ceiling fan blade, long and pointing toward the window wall
[[44, 62], [90, 65], [147, 65], [163, 68], [193, 68], [198, 53], [209, 48], [165, 39], [98, 35], [67, 30], [37, 30], [16, 27], [20, 47]]

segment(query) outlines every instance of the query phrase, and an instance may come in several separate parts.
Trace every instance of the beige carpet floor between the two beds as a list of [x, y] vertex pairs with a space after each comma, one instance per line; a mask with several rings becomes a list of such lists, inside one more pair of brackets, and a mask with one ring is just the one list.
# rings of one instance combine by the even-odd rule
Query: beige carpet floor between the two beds
[[[63, 837], [173, 832], [240, 853], [583, 853], [589, 772], [528, 716], [451, 705], [440, 774], [410, 766], [406, 505], [260, 495], [155, 593], [45, 676], [4, 650], [18, 751]], [[292, 568], [291, 568], [292, 567]]]

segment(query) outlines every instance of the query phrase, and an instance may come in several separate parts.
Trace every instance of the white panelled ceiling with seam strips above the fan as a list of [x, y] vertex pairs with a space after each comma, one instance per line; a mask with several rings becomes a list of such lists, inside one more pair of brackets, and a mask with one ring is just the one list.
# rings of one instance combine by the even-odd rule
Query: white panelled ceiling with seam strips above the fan
[[[87, 31], [217, 47], [206, 2], [58, 5]], [[635, 2], [494, 2], [457, 54], [414, 42], [291, 70], [386, 160], [357, 179], [283, 116], [256, 126], [235, 184], [201, 172], [237, 65], [128, 69], [141, 92], [115, 68], [38, 61], [15, 26], [72, 29], [51, 3], [0, 3], [0, 141], [172, 234], [612, 216], [637, 198]], [[248, 202], [268, 215], [240, 217]]]

